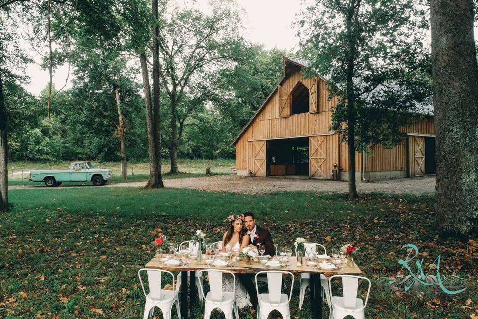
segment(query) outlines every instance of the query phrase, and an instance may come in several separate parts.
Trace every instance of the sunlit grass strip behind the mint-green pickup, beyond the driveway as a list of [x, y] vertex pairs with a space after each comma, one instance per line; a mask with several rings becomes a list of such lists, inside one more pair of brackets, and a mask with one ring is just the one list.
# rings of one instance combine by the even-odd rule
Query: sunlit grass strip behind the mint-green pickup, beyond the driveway
[[[109, 168], [113, 172], [113, 177], [110, 183], [122, 183], [121, 180], [121, 163], [120, 162], [93, 162], [94, 167]], [[206, 167], [211, 167], [213, 175], [231, 174], [231, 167], [234, 166], [232, 159], [179, 159], [179, 174], [169, 175], [168, 161], [163, 162], [162, 172], [164, 179], [170, 178], [187, 178], [187, 177], [202, 177], [206, 175]], [[33, 183], [28, 181], [28, 175], [33, 169], [67, 169], [70, 162], [9, 162], [8, 163], [8, 185], [37, 185], [44, 186], [43, 183]], [[128, 163], [128, 180], [126, 182], [146, 181], [149, 176], [149, 163]], [[81, 185], [82, 183], [65, 182], [63, 185]], [[90, 182], [84, 183], [91, 185]]]

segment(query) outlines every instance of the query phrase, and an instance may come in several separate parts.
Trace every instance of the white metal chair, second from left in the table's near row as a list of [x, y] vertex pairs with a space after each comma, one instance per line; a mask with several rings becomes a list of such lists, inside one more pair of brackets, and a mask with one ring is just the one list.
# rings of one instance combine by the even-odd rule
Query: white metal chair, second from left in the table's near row
[[[200, 270], [198, 274], [202, 278], [202, 274], [207, 272], [209, 278], [210, 291], [207, 295], [204, 295], [204, 289], [202, 288], [202, 294], [204, 299], [204, 319], [211, 317], [211, 312], [218, 308], [220, 309], [226, 319], [233, 319], [233, 312], [236, 319], [239, 319], [238, 306], [236, 305], [236, 276], [229, 270]], [[233, 276], [233, 291], [223, 291], [223, 274], [230, 274]], [[201, 286], [202, 286], [201, 280]]]

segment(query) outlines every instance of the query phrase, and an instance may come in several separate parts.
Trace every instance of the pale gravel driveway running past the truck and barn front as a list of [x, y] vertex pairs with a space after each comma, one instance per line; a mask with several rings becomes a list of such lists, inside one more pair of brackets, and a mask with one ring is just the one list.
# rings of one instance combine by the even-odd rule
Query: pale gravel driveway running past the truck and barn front
[[[100, 187], [144, 187], [146, 182], [118, 183]], [[164, 185], [172, 188], [188, 188], [206, 191], [230, 191], [246, 194], [265, 194], [274, 191], [314, 191], [314, 192], [347, 192], [347, 182], [297, 178], [263, 178], [241, 177], [237, 175], [220, 175], [211, 177], [194, 177], [182, 179], [165, 179]], [[60, 186], [58, 188], [94, 187]], [[42, 185], [9, 186], [9, 190], [44, 188]], [[55, 188], [55, 189], [58, 189]], [[435, 176], [402, 178], [379, 182], [357, 183], [358, 192], [388, 192], [425, 194], [435, 192]]]

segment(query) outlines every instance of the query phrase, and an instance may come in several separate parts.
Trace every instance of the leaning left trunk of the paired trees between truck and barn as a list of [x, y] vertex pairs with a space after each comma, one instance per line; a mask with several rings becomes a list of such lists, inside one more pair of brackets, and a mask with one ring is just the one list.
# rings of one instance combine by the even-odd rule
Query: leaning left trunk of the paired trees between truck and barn
[[148, 152], [149, 152], [149, 179], [145, 188], [158, 188], [159, 184], [158, 176], [158, 163], [156, 160], [156, 147], [154, 141], [154, 121], [153, 110], [151, 105], [151, 86], [149, 85], [149, 73], [148, 64], [146, 60], [146, 54], [143, 52], [139, 55], [139, 61], [141, 62], [141, 73], [143, 76], [143, 90], [144, 100], [146, 102], [146, 128], [148, 135]]

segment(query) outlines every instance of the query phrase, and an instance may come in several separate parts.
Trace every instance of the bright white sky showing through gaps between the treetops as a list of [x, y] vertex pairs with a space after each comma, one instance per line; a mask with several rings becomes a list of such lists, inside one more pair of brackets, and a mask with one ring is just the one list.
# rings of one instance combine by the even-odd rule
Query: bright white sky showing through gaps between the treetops
[[[264, 44], [266, 49], [274, 47], [295, 51], [298, 49], [299, 39], [296, 37], [296, 31], [292, 27], [295, 21], [295, 15], [299, 12], [299, 0], [236, 0], [244, 8], [248, 17], [245, 18], [244, 36], [247, 40], [254, 43]], [[227, 3], [227, 1], [225, 1]], [[206, 6], [207, 0], [197, 0], [198, 6]], [[24, 49], [33, 57], [35, 51], [29, 49], [26, 42]], [[45, 55], [47, 54], [45, 48]], [[37, 55], [36, 62], [40, 62], [41, 57]], [[48, 84], [48, 71], [43, 71], [38, 64], [29, 64], [26, 68], [26, 74], [30, 77], [30, 83], [26, 89], [35, 95]], [[68, 65], [56, 69], [53, 74], [53, 84], [57, 89], [65, 85], [68, 75]], [[66, 88], [71, 87], [72, 75]]]

